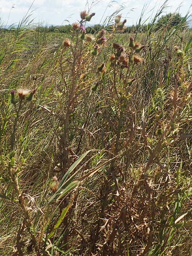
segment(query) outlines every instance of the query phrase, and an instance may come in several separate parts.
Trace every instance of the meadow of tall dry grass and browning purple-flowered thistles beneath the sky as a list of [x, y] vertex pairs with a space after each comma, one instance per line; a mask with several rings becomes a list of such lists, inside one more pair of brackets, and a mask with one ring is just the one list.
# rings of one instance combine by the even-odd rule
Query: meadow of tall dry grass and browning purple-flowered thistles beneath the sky
[[0, 30], [1, 256], [192, 256], [192, 30], [162, 12]]

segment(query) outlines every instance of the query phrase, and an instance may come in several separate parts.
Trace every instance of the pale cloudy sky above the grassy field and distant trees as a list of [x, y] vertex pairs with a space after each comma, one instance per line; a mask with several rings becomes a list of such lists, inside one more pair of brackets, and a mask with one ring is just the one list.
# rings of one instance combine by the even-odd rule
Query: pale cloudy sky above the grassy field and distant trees
[[[18, 24], [27, 12], [31, 14], [29, 20], [34, 19], [34, 23], [69, 24], [79, 20], [79, 13], [92, 6], [90, 12], [96, 14], [91, 24], [102, 24], [106, 17], [122, 8], [119, 13], [127, 19], [126, 25], [131, 26], [137, 23], [144, 6], [143, 22], [153, 17], [163, 3], [163, 0], [0, 0], [0, 25]], [[191, 0], [168, 0], [165, 14], [179, 10], [181, 15], [186, 15], [191, 3]], [[192, 8], [190, 10], [192, 13]]]

